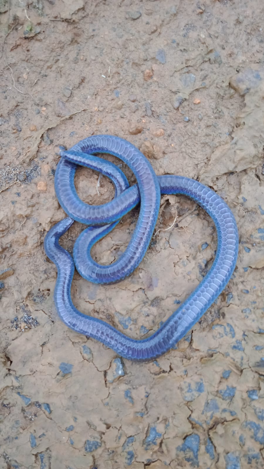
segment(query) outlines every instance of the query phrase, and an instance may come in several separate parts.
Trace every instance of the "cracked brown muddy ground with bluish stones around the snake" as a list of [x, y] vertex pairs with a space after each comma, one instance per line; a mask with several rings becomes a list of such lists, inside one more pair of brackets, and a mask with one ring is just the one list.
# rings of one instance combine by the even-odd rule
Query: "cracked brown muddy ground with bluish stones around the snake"
[[[263, 468], [263, 2], [0, 0], [0, 24], [0, 468]], [[43, 240], [65, 217], [59, 145], [93, 134], [129, 140], [156, 174], [209, 185], [237, 220], [225, 291], [151, 363], [74, 333], [54, 307]], [[76, 187], [93, 204], [114, 195], [90, 170], [78, 169]], [[98, 262], [124, 251], [137, 214], [94, 247]], [[71, 251], [81, 229], [62, 245]], [[75, 273], [73, 301], [147, 337], [198, 285], [216, 246], [202, 209], [163, 196], [140, 267], [107, 287]]]

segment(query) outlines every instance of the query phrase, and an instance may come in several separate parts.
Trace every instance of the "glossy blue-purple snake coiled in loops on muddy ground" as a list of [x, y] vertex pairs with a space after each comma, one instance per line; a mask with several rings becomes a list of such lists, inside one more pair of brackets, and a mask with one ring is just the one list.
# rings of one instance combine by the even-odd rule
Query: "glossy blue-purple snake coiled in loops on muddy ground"
[[[109, 161], [94, 156], [97, 153], [109, 153], [121, 159], [135, 174], [137, 184], [130, 187], [124, 173]], [[111, 202], [91, 206], [79, 199], [74, 186], [78, 165], [95, 169], [110, 178], [115, 186], [115, 197]], [[57, 267], [54, 302], [62, 321], [74, 331], [101, 341], [129, 360], [151, 360], [175, 347], [225, 288], [236, 265], [238, 231], [233, 213], [223, 199], [193, 179], [175, 175], [156, 176], [149, 161], [134, 145], [108, 135], [85, 138], [70, 150], [61, 151], [55, 172], [55, 191], [68, 217], [48, 231], [44, 247], [47, 257]], [[210, 271], [186, 301], [155, 333], [136, 340], [104, 321], [78, 311], [72, 303], [70, 287], [75, 266], [85, 279], [104, 284], [115, 283], [133, 272], [148, 249], [161, 194], [183, 194], [209, 213], [217, 229], [217, 252]], [[113, 264], [97, 264], [90, 254], [93, 244], [139, 203], [139, 219], [127, 249]], [[60, 246], [59, 239], [74, 220], [89, 226], [74, 245], [73, 260]]]

